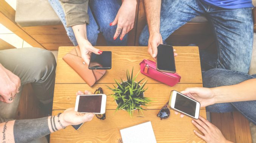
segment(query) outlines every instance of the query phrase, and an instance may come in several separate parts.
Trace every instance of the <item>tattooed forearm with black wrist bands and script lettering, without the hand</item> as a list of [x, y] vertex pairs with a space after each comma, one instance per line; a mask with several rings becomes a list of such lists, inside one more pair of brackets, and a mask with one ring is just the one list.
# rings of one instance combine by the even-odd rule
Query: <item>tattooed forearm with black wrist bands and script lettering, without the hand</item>
[[11, 120], [0, 123], [1, 136], [6, 143], [27, 143], [36, 138], [41, 138], [51, 132], [62, 129], [57, 116], [43, 117], [39, 119]]

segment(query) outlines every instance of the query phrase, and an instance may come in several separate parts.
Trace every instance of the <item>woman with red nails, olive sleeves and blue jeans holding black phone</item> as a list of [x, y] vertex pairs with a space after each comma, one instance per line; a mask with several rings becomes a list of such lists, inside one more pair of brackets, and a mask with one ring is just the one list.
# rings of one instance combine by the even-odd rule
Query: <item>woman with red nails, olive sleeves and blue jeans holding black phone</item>
[[137, 5], [136, 0], [123, 0], [123, 3], [121, 0], [88, 1], [49, 0], [72, 43], [79, 45], [87, 64], [91, 53], [102, 53], [93, 47], [100, 32], [109, 46], [127, 44], [126, 33], [133, 29]]

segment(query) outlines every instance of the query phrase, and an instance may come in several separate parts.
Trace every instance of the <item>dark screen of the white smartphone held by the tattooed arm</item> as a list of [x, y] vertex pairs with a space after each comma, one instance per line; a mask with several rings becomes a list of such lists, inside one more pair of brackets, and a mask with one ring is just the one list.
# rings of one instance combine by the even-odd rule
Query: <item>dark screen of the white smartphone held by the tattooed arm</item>
[[78, 103], [78, 112], [100, 113], [102, 95], [80, 96]]

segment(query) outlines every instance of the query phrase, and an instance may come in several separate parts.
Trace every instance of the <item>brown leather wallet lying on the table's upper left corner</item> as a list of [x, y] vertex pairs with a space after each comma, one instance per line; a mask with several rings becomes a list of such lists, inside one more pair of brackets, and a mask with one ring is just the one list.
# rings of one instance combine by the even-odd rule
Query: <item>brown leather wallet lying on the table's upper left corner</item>
[[106, 70], [88, 69], [88, 65], [83, 61], [79, 46], [62, 58], [69, 66], [71, 66], [83, 80], [92, 87], [105, 73]]

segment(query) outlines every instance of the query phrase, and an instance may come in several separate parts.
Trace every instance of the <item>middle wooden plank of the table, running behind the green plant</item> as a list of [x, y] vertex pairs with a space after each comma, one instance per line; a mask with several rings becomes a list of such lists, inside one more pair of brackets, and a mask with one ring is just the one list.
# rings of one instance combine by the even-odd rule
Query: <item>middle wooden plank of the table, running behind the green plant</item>
[[[89, 90], [94, 92], [99, 87], [103, 88], [103, 92], [106, 95], [112, 93], [111, 90], [107, 89], [107, 86], [112, 86], [112, 84], [95, 84], [93, 87], [89, 87], [88, 84], [55, 84], [54, 89], [54, 104], [52, 109], [66, 109], [74, 107], [76, 103], [76, 92], [78, 90], [84, 91]], [[148, 90], [145, 92], [145, 97], [153, 98], [154, 102], [150, 106], [146, 106], [145, 109], [160, 109], [169, 100], [171, 90], [182, 91], [187, 87], [202, 87], [202, 84], [176, 84], [173, 87], [167, 86], [165, 84], [157, 84], [161, 86], [156, 86], [156, 84], [146, 84]], [[116, 109], [116, 102], [113, 102], [111, 96], [107, 96], [106, 109]]]

